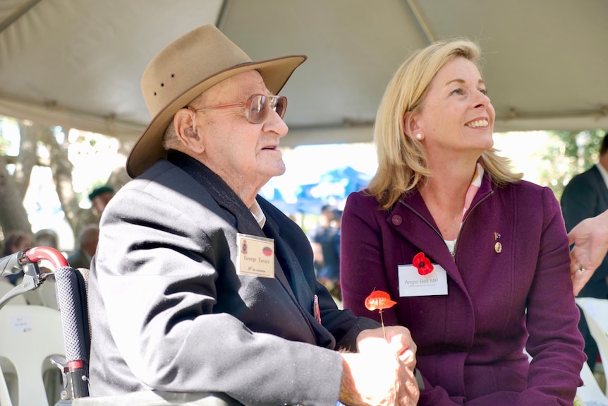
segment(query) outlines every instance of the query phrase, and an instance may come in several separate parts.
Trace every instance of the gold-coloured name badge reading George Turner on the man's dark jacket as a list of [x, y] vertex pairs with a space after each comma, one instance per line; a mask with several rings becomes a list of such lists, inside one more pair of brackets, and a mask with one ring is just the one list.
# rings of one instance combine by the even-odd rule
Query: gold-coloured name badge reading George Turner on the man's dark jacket
[[238, 275], [274, 277], [274, 239], [238, 233], [236, 246]]

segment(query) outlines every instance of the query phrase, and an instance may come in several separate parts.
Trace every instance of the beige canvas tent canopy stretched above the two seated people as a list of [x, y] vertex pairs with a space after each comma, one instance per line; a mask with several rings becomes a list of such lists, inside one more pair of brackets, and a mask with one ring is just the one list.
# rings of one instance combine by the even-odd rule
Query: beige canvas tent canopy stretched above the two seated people
[[456, 36], [482, 46], [495, 131], [608, 129], [607, 17], [605, 0], [2, 0], [0, 114], [135, 141], [147, 63], [214, 23], [254, 60], [308, 55], [281, 145], [371, 141], [408, 52]]

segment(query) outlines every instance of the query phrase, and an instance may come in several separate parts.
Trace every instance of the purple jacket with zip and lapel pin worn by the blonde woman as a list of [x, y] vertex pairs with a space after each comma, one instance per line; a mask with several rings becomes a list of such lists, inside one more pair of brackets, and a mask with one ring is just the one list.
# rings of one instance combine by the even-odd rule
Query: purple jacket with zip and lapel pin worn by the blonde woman
[[[399, 297], [398, 265], [421, 251], [446, 270], [447, 295]], [[585, 354], [569, 264], [559, 203], [526, 181], [498, 188], [485, 174], [454, 259], [418, 192], [387, 211], [352, 193], [342, 217], [343, 304], [379, 320], [367, 295], [397, 301], [384, 323], [406, 326], [418, 345], [421, 406], [571, 406]]]

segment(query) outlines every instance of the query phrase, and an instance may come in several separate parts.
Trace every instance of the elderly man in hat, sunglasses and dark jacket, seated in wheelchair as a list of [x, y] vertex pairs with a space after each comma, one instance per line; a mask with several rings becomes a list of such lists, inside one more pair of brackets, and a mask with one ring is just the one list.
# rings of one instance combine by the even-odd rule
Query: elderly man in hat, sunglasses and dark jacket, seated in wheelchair
[[[243, 405], [415, 405], [415, 345], [337, 309], [294, 222], [257, 192], [283, 174], [305, 56], [253, 62], [213, 25], [147, 67], [153, 119], [102, 219], [91, 394], [221, 392]], [[341, 350], [340, 352], [336, 350]], [[356, 352], [356, 351], [359, 352]]]

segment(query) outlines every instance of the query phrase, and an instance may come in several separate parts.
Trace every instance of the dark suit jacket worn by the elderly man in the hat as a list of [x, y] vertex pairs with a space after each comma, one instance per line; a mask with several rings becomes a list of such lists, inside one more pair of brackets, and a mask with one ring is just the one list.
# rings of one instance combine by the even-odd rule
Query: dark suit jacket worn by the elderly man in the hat
[[[263, 229], [221, 178], [176, 151], [116, 193], [91, 265], [92, 396], [152, 388], [335, 405], [336, 350], [356, 350], [379, 323], [338, 309], [303, 231], [257, 201]], [[237, 233], [274, 239], [274, 278], [236, 273]]]

